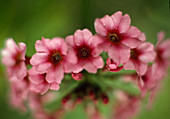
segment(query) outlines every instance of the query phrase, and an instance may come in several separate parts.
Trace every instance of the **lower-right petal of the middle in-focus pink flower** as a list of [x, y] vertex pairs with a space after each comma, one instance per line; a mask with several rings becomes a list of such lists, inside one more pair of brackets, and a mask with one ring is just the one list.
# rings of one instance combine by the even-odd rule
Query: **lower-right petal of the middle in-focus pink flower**
[[103, 59], [98, 56], [98, 57], [93, 57], [91, 62], [97, 67], [97, 68], [102, 68], [104, 65]]

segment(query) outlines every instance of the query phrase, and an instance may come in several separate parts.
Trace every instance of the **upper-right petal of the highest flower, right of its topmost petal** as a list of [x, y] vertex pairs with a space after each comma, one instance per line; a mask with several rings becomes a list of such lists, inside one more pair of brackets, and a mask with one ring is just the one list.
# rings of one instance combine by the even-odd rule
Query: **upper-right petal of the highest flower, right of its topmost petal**
[[128, 14], [125, 14], [119, 24], [119, 32], [126, 33], [130, 27], [131, 19]]

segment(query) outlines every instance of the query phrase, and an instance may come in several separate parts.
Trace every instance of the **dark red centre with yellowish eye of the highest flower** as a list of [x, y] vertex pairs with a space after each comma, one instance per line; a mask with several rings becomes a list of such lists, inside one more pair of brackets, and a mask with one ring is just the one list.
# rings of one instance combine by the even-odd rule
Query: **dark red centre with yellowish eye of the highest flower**
[[111, 43], [119, 43], [122, 39], [122, 36], [119, 34], [119, 32], [117, 30], [113, 30], [113, 31], [109, 31], [107, 34], [107, 39], [111, 42]]

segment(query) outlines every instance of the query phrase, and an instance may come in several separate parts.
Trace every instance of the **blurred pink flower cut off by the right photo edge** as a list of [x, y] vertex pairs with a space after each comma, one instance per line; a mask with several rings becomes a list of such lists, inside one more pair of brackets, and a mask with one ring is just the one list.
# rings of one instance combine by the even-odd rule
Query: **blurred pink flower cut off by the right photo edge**
[[153, 64], [156, 79], [160, 80], [166, 75], [166, 70], [170, 64], [170, 39], [163, 41], [164, 33], [157, 34], [158, 43], [156, 45], [156, 62]]

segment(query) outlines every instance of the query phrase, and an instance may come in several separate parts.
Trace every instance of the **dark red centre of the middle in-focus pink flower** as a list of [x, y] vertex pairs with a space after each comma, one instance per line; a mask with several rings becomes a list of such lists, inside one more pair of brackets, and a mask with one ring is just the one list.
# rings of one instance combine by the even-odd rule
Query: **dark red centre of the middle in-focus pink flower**
[[78, 47], [76, 51], [79, 58], [89, 58], [91, 55], [91, 49], [85, 45]]

